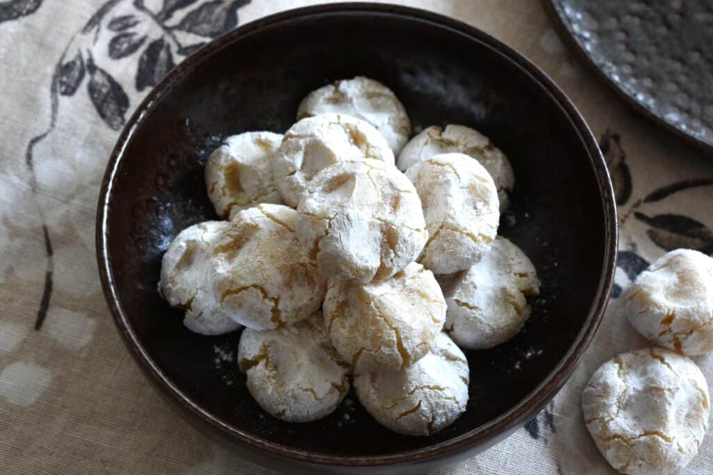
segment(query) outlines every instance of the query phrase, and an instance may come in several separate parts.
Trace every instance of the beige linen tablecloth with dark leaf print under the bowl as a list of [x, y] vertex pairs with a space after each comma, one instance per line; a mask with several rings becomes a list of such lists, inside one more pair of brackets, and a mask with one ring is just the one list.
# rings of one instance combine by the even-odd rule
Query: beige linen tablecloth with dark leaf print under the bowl
[[[157, 80], [230, 28], [314, 3], [0, 1], [0, 472], [269, 473], [195, 432], [141, 374], [102, 296], [94, 218], [113, 143]], [[622, 103], [538, 1], [394, 3], [472, 24], [543, 68], [600, 140], [621, 225], [614, 299], [568, 384], [505, 442], [442, 473], [612, 473], [581, 391], [612, 355], [647, 346], [621, 318], [621, 289], [667, 250], [713, 252], [713, 162]], [[697, 362], [713, 382], [713, 358]], [[709, 435], [685, 473], [711, 471]]]

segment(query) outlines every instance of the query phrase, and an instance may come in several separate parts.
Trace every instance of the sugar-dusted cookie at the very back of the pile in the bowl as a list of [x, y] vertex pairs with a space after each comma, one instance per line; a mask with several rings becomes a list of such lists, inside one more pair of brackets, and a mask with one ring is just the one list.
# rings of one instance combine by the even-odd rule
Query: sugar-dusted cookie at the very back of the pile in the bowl
[[394, 154], [409, 140], [411, 122], [396, 95], [379, 81], [356, 76], [312, 91], [297, 109], [297, 119], [342, 113], [366, 120], [386, 138]]

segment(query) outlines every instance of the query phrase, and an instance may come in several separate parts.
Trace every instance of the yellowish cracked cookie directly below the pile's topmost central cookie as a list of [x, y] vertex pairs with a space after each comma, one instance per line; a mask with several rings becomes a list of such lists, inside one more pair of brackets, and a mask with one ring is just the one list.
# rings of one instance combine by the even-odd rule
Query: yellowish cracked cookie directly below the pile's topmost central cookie
[[330, 279], [323, 308], [334, 348], [360, 372], [414, 364], [446, 319], [434, 274], [415, 262], [378, 283]]

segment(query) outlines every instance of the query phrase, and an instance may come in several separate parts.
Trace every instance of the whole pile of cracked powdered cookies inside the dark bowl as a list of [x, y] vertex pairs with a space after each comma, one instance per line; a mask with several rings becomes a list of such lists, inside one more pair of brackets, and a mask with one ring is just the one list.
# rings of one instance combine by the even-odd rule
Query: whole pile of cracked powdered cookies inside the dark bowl
[[245, 327], [240, 370], [279, 419], [325, 417], [353, 382], [384, 426], [434, 434], [466, 411], [461, 348], [499, 345], [530, 315], [535, 268], [497, 235], [507, 157], [460, 125], [409, 135], [381, 83], [319, 88], [284, 135], [245, 132], [210, 155], [227, 221], [190, 226], [163, 256], [159, 288], [186, 327]]

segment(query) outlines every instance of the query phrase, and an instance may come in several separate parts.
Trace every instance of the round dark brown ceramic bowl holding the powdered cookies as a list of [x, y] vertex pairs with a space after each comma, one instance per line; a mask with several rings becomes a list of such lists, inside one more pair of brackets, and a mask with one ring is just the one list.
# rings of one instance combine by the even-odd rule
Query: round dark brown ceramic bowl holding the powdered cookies
[[[470, 125], [510, 157], [517, 184], [501, 234], [543, 282], [508, 343], [468, 353], [468, 410], [432, 437], [379, 426], [354, 394], [318, 422], [265, 414], [233, 360], [240, 333], [205, 337], [156, 290], [160, 259], [190, 224], [217, 219], [203, 184], [223, 137], [284, 132], [309, 91], [366, 75], [394, 90], [416, 130]], [[426, 470], [500, 441], [552, 399], [592, 340], [617, 246], [612, 187], [570, 100], [500, 41], [458, 21], [397, 6], [332, 4], [246, 24], [176, 67], [138, 107], [111, 155], [97, 216], [104, 292], [130, 352], [180, 413], [272, 467]], [[347, 417], [348, 414], [348, 417]]]

